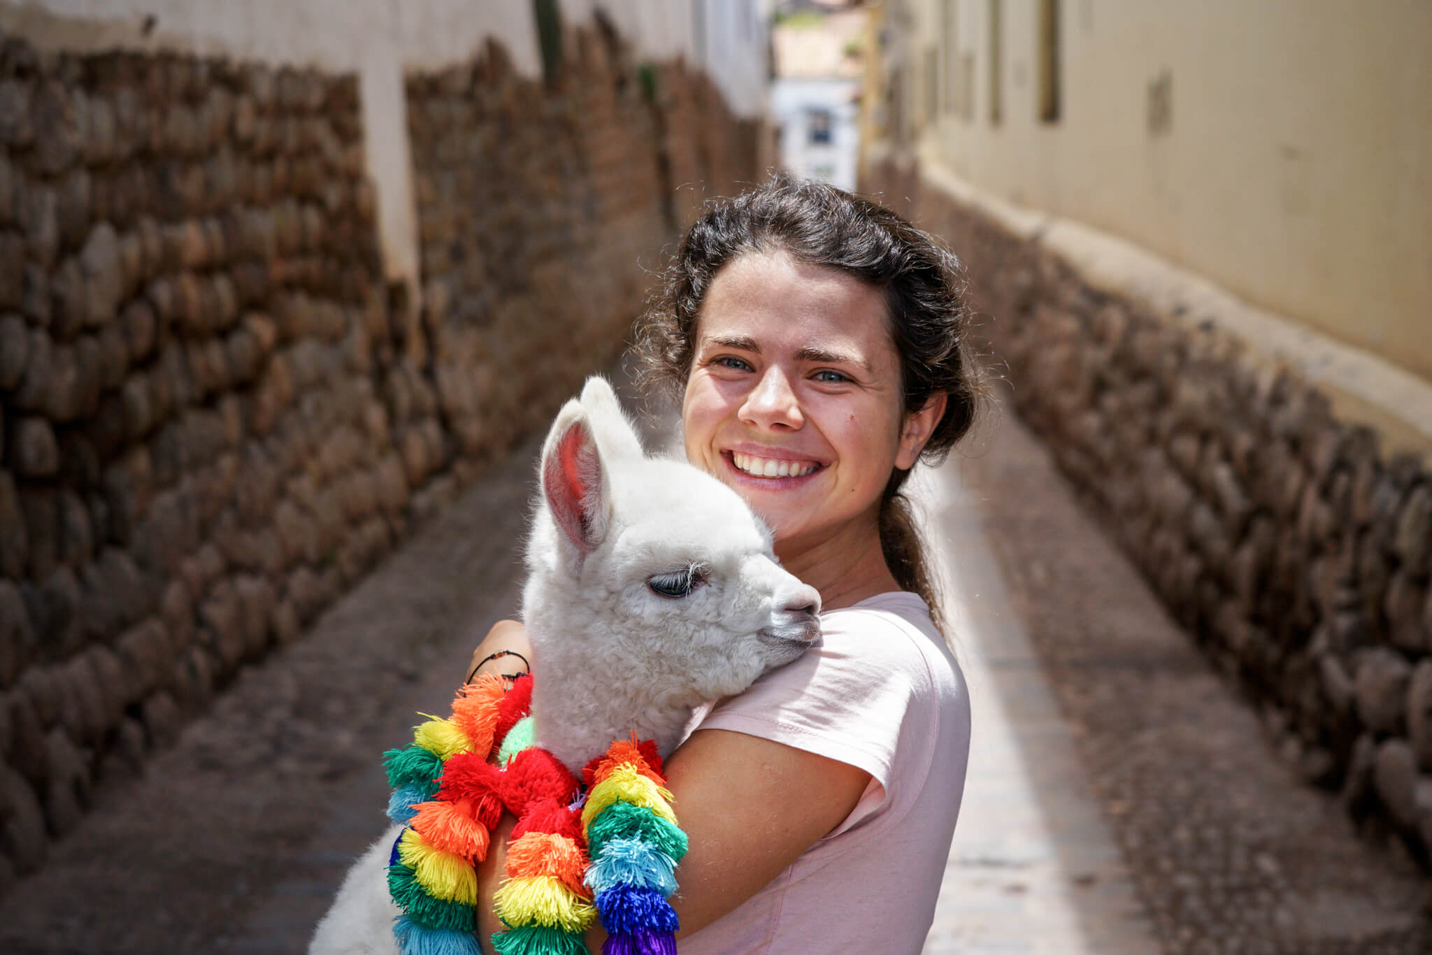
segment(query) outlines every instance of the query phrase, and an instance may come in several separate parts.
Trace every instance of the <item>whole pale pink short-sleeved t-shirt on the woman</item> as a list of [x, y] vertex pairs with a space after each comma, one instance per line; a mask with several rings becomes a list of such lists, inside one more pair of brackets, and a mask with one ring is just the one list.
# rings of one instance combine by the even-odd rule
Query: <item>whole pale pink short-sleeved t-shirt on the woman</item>
[[[770, 885], [680, 941], [682, 955], [919, 952], [969, 757], [965, 680], [916, 594], [821, 614], [822, 646], [697, 714], [858, 766], [859, 803]], [[677, 871], [680, 879], [680, 871]]]

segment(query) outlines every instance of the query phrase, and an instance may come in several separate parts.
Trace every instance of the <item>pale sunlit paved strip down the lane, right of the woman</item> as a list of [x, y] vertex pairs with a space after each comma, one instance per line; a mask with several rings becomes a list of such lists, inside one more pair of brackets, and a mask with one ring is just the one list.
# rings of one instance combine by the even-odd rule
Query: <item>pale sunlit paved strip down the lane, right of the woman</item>
[[922, 475], [972, 739], [925, 955], [1157, 955], [1068, 726], [1010, 607], [962, 461]]

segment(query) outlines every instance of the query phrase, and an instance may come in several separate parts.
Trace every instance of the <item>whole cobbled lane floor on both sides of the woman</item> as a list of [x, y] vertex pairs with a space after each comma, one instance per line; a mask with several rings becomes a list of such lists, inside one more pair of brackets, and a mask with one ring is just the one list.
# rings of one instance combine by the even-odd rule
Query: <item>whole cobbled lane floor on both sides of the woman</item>
[[[0, 951], [302, 952], [384, 828], [378, 753], [517, 606], [534, 452], [102, 793]], [[1428, 881], [1285, 767], [1017, 422], [929, 487], [978, 722], [928, 952], [1432, 951]]]

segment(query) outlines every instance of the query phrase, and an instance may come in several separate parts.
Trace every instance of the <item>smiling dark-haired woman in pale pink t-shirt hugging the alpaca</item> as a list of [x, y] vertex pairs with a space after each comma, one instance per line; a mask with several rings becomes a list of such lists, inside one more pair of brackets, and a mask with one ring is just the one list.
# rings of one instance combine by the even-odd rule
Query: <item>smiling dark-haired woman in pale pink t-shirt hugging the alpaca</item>
[[[644, 384], [682, 397], [687, 458], [766, 521], [822, 606], [822, 644], [699, 713], [667, 762], [686, 955], [924, 945], [969, 704], [901, 487], [975, 415], [962, 288], [894, 212], [776, 178], [706, 210], [639, 325]], [[649, 581], [699, 586], [699, 567]], [[498, 649], [526, 653], [520, 624], [477, 654]], [[484, 936], [501, 835], [478, 872]]]

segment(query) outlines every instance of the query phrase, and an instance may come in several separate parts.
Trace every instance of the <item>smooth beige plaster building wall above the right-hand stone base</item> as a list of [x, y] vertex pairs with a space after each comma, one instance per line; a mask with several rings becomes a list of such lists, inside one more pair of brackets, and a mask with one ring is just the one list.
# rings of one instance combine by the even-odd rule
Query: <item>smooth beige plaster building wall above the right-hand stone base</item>
[[[904, 6], [922, 150], [1432, 378], [1432, 4]], [[1053, 120], [1040, 116], [1047, 9]]]

